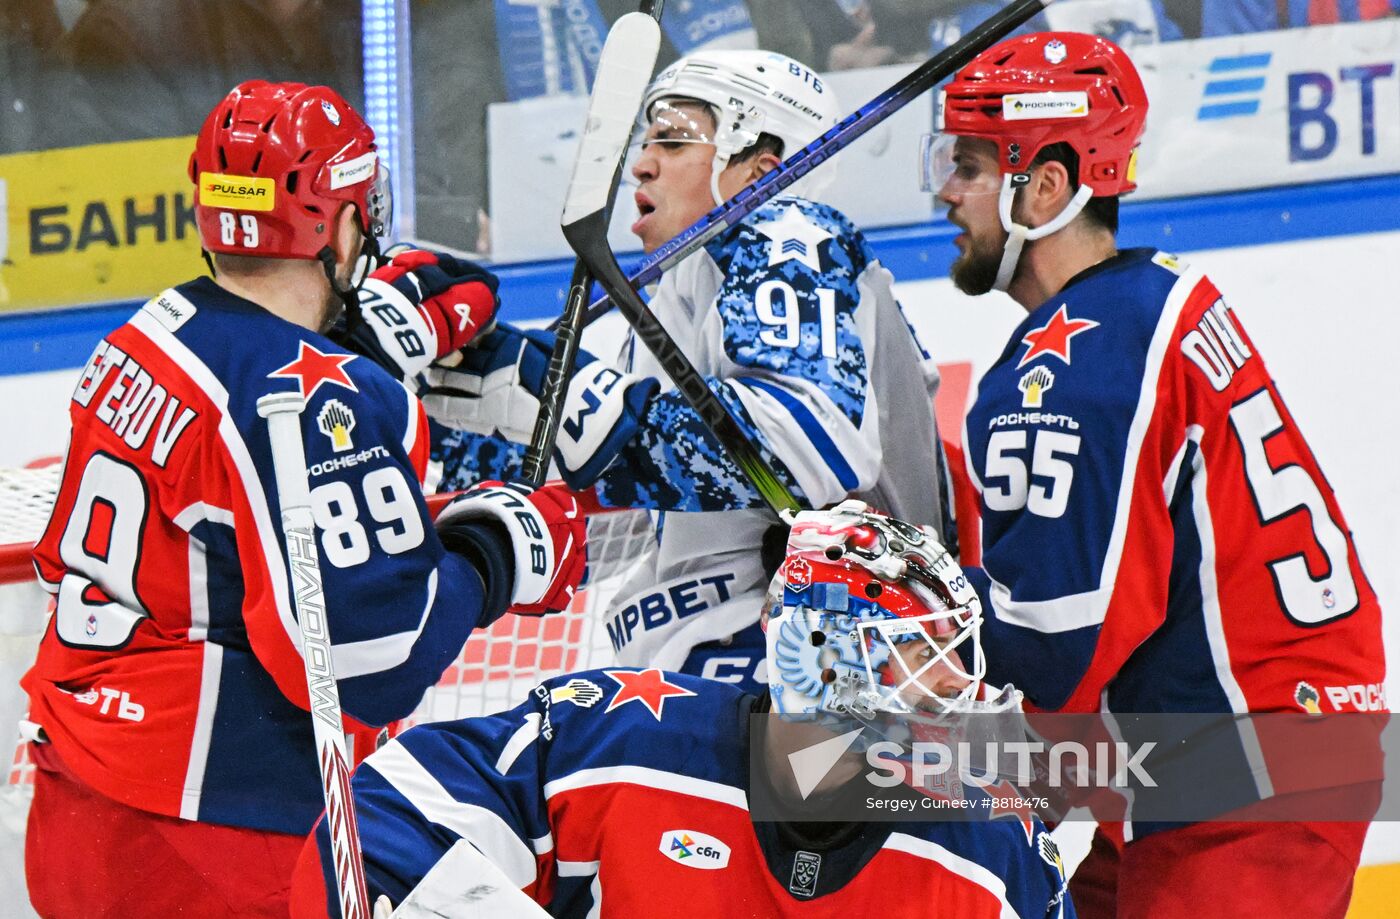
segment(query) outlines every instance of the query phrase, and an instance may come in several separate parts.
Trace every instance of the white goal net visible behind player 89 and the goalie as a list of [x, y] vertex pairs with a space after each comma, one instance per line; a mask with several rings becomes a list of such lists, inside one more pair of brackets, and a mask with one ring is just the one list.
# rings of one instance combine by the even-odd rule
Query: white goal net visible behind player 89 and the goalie
[[[59, 486], [57, 464], [0, 469], [0, 737], [14, 738], [4, 794], [20, 801], [34, 782], [28, 744], [18, 741], [25, 712], [20, 677], [38, 650], [48, 619], [29, 552], [49, 518]], [[501, 712], [525, 699], [540, 679], [613, 661], [603, 614], [627, 572], [654, 544], [647, 511], [595, 511], [588, 517], [588, 577], [570, 608], [550, 616], [501, 616], [476, 632], [456, 663], [407, 719], [442, 721]], [[10, 801], [6, 813], [22, 811]], [[6, 821], [0, 813], [0, 824]], [[13, 820], [13, 818], [11, 818]], [[18, 828], [22, 834], [22, 825]]]

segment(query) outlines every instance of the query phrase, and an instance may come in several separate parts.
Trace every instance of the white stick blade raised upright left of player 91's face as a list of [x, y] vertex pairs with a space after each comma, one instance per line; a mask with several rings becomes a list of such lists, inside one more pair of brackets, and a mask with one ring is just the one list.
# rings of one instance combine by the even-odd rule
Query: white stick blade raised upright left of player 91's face
[[631, 126], [651, 83], [659, 48], [661, 27], [645, 13], [629, 13], [608, 31], [588, 101], [584, 139], [564, 199], [560, 221], [564, 226], [608, 207], [612, 177], [631, 140]]

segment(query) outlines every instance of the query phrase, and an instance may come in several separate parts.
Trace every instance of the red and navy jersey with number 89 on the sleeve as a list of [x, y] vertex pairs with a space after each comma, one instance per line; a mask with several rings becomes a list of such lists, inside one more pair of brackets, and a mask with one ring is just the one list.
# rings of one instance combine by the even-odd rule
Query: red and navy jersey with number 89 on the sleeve
[[[405, 717], [504, 600], [423, 502], [427, 420], [368, 360], [200, 279], [109, 333], [70, 403], [35, 548], [56, 608], [29, 717], [92, 789], [157, 814], [307, 832], [321, 811], [266, 422], [302, 438], [351, 756]], [[497, 579], [498, 580], [498, 579]], [[483, 609], [483, 604], [486, 604]]]

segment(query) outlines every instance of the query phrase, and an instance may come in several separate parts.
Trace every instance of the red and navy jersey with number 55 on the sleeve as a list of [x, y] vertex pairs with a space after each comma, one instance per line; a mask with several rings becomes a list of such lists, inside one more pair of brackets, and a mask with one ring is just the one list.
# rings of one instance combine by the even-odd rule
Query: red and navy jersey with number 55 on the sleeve
[[1033, 310], [963, 437], [988, 679], [1044, 710], [1385, 710], [1327, 479], [1198, 270], [1151, 249]]

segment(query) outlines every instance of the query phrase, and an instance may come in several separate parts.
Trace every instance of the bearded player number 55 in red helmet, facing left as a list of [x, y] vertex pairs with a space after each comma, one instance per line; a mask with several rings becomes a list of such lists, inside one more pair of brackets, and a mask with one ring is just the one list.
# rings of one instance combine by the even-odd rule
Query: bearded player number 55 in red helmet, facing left
[[[1089, 35], [1014, 38], [941, 108], [952, 277], [1028, 311], [963, 436], [991, 674], [1050, 712], [1383, 712], [1375, 593], [1254, 343], [1201, 272], [1117, 248], [1147, 118], [1133, 63]], [[1320, 772], [1323, 792], [1344, 782]], [[1252, 793], [1275, 799], [1275, 779]], [[1341, 919], [1365, 831], [1103, 827], [1075, 899], [1093, 918]]]

